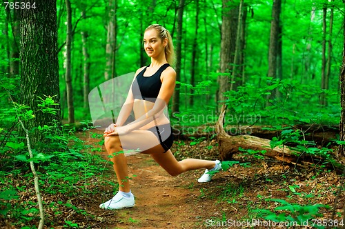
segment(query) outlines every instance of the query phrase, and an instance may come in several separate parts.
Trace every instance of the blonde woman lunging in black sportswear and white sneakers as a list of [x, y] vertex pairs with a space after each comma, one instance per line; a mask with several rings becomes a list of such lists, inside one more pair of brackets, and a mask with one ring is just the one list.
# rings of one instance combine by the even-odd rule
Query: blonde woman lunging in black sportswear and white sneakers
[[[130, 208], [135, 205], [128, 181], [127, 158], [121, 153], [124, 149], [139, 149], [141, 153], [150, 154], [172, 176], [206, 168], [199, 182], [212, 179], [208, 171], [221, 170], [221, 162], [218, 160], [177, 161], [172, 155], [172, 128], [164, 113], [176, 82], [176, 72], [172, 68], [175, 54], [170, 32], [158, 24], [148, 26], [144, 33], [144, 48], [151, 63], [137, 70], [116, 123], [112, 123], [104, 132], [106, 150], [109, 155], [115, 155], [112, 162], [119, 192], [109, 201], [101, 203], [99, 207], [103, 209]], [[124, 125], [131, 111], [135, 114], [135, 121]]]

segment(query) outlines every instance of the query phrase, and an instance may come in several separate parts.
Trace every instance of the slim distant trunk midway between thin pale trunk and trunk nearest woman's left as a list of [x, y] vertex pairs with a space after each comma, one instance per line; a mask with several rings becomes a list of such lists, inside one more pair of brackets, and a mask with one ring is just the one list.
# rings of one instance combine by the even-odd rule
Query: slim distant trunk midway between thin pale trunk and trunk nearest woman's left
[[[81, 17], [86, 19], [85, 10], [81, 11]], [[90, 54], [88, 53], [88, 31], [81, 31], [81, 42], [83, 43], [83, 100], [84, 109], [88, 109], [88, 93], [90, 92]]]

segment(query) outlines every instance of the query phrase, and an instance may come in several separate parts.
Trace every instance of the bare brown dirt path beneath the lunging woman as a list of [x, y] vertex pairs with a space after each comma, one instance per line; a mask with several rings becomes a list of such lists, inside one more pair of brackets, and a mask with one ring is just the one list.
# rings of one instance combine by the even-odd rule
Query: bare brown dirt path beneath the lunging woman
[[[200, 188], [197, 177], [203, 172], [185, 172], [171, 177], [150, 155], [128, 157], [128, 168], [135, 207], [100, 210], [106, 215], [101, 228], [201, 228], [203, 206], [198, 205]], [[189, 187], [189, 188], [188, 188]], [[111, 192], [110, 188], [110, 192]], [[108, 196], [109, 197], [109, 196]], [[95, 206], [96, 207], [96, 206]]]

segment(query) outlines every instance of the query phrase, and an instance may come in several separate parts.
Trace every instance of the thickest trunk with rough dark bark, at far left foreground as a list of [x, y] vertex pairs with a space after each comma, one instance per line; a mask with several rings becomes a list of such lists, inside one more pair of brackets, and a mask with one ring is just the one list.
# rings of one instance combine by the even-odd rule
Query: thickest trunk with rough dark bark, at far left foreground
[[[26, 128], [51, 126], [56, 120], [61, 122], [59, 105], [59, 62], [57, 58], [57, 4], [56, 0], [30, 0], [36, 9], [21, 12], [21, 104], [33, 111], [33, 119], [25, 121]], [[43, 113], [39, 97], [52, 97], [56, 114]], [[32, 146], [41, 141], [45, 147], [43, 132], [35, 130], [30, 136]]]

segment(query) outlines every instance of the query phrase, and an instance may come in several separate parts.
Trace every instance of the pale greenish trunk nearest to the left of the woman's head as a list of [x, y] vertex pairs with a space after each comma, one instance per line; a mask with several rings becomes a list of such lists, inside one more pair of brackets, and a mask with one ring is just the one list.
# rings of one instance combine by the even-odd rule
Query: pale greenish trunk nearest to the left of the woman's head
[[108, 34], [106, 44], [106, 80], [116, 77], [116, 43], [117, 43], [117, 0], [109, 0], [108, 12]]

